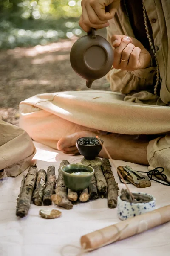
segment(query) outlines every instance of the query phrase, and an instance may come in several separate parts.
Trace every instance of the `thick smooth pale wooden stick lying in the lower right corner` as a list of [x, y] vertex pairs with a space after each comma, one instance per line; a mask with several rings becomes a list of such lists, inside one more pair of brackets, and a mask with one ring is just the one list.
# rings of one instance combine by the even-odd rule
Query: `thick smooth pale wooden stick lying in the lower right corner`
[[137, 235], [168, 221], [170, 221], [170, 205], [88, 233], [81, 237], [80, 243], [85, 251], [91, 251]]

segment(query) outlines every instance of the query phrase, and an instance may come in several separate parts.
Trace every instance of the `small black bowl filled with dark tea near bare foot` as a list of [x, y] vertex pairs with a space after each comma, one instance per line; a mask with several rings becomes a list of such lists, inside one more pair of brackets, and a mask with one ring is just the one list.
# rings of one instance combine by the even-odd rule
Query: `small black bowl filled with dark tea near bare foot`
[[82, 137], [77, 139], [76, 145], [79, 153], [85, 157], [85, 159], [95, 159], [102, 150], [102, 145], [99, 140], [103, 144], [103, 140], [100, 138], [97, 139], [96, 137]]

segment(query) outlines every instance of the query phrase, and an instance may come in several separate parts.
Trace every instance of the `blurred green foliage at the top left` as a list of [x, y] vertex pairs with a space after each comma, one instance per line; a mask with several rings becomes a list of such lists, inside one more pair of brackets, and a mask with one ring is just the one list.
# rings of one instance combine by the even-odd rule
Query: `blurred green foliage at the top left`
[[81, 0], [1, 0], [0, 48], [27, 47], [81, 36]]

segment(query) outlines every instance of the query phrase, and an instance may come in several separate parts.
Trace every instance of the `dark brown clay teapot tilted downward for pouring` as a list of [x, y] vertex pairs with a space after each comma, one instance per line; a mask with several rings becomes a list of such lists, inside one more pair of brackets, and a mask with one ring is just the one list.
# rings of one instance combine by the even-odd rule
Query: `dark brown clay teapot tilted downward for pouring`
[[73, 70], [86, 79], [91, 87], [94, 80], [105, 76], [113, 64], [113, 49], [109, 42], [96, 29], [79, 38], [71, 48], [70, 62]]

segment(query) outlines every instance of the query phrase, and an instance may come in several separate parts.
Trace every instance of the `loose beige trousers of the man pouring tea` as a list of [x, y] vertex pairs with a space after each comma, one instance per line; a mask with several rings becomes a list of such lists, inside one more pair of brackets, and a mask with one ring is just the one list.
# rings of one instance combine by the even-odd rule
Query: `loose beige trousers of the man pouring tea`
[[45, 93], [20, 103], [20, 127], [52, 148], [61, 137], [82, 130], [157, 134], [147, 148], [149, 169], [170, 170], [169, 107], [127, 102], [106, 91]]

